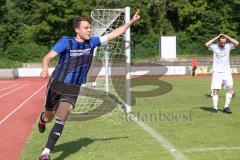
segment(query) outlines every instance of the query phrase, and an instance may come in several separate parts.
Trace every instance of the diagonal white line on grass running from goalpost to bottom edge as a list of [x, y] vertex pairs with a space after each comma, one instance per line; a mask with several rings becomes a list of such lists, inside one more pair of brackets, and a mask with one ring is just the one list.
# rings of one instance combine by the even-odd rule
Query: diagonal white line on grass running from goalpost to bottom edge
[[139, 118], [135, 117], [134, 115], [128, 114], [128, 116], [134, 122], [136, 122], [139, 126], [141, 126], [146, 132], [148, 132], [154, 139], [156, 139], [165, 149], [167, 149], [176, 160], [188, 160], [188, 158], [186, 157], [186, 155], [184, 153], [182, 153], [179, 149], [177, 149], [173, 144], [171, 144], [160, 133], [155, 131], [153, 128], [148, 126], [146, 123], [144, 123], [143, 121], [141, 121]]

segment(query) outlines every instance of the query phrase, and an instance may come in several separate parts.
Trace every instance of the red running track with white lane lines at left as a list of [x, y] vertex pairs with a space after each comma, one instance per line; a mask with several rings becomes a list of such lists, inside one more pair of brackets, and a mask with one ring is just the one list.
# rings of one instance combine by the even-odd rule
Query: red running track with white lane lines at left
[[0, 160], [17, 160], [43, 110], [47, 80], [0, 81]]

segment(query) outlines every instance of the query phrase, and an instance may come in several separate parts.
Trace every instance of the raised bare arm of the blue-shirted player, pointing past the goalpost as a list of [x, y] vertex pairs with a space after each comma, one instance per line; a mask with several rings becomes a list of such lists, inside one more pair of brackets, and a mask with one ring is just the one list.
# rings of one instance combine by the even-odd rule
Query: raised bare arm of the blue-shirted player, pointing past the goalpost
[[107, 35], [108, 41], [113, 40], [113, 39], [117, 38], [118, 36], [120, 36], [121, 34], [123, 34], [133, 23], [135, 23], [139, 19], [140, 19], [140, 15], [139, 15], [139, 9], [138, 9], [129, 22], [116, 28], [115, 30], [113, 30], [111, 33], [109, 33]]

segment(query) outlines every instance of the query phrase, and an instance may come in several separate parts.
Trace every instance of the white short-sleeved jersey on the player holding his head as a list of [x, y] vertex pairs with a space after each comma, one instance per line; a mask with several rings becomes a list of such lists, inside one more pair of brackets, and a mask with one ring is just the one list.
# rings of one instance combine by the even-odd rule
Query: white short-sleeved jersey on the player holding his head
[[213, 51], [213, 72], [231, 72], [229, 54], [232, 49], [233, 43], [226, 43], [224, 47], [210, 45], [209, 50]]

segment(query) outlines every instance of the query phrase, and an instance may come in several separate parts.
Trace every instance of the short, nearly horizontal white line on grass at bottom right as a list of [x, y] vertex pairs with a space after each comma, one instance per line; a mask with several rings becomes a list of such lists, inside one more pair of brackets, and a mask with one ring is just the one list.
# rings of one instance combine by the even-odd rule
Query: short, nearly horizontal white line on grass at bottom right
[[210, 152], [210, 151], [221, 151], [221, 150], [240, 150], [240, 147], [190, 148], [190, 149], [186, 149], [184, 152], [192, 153], [192, 152]]

